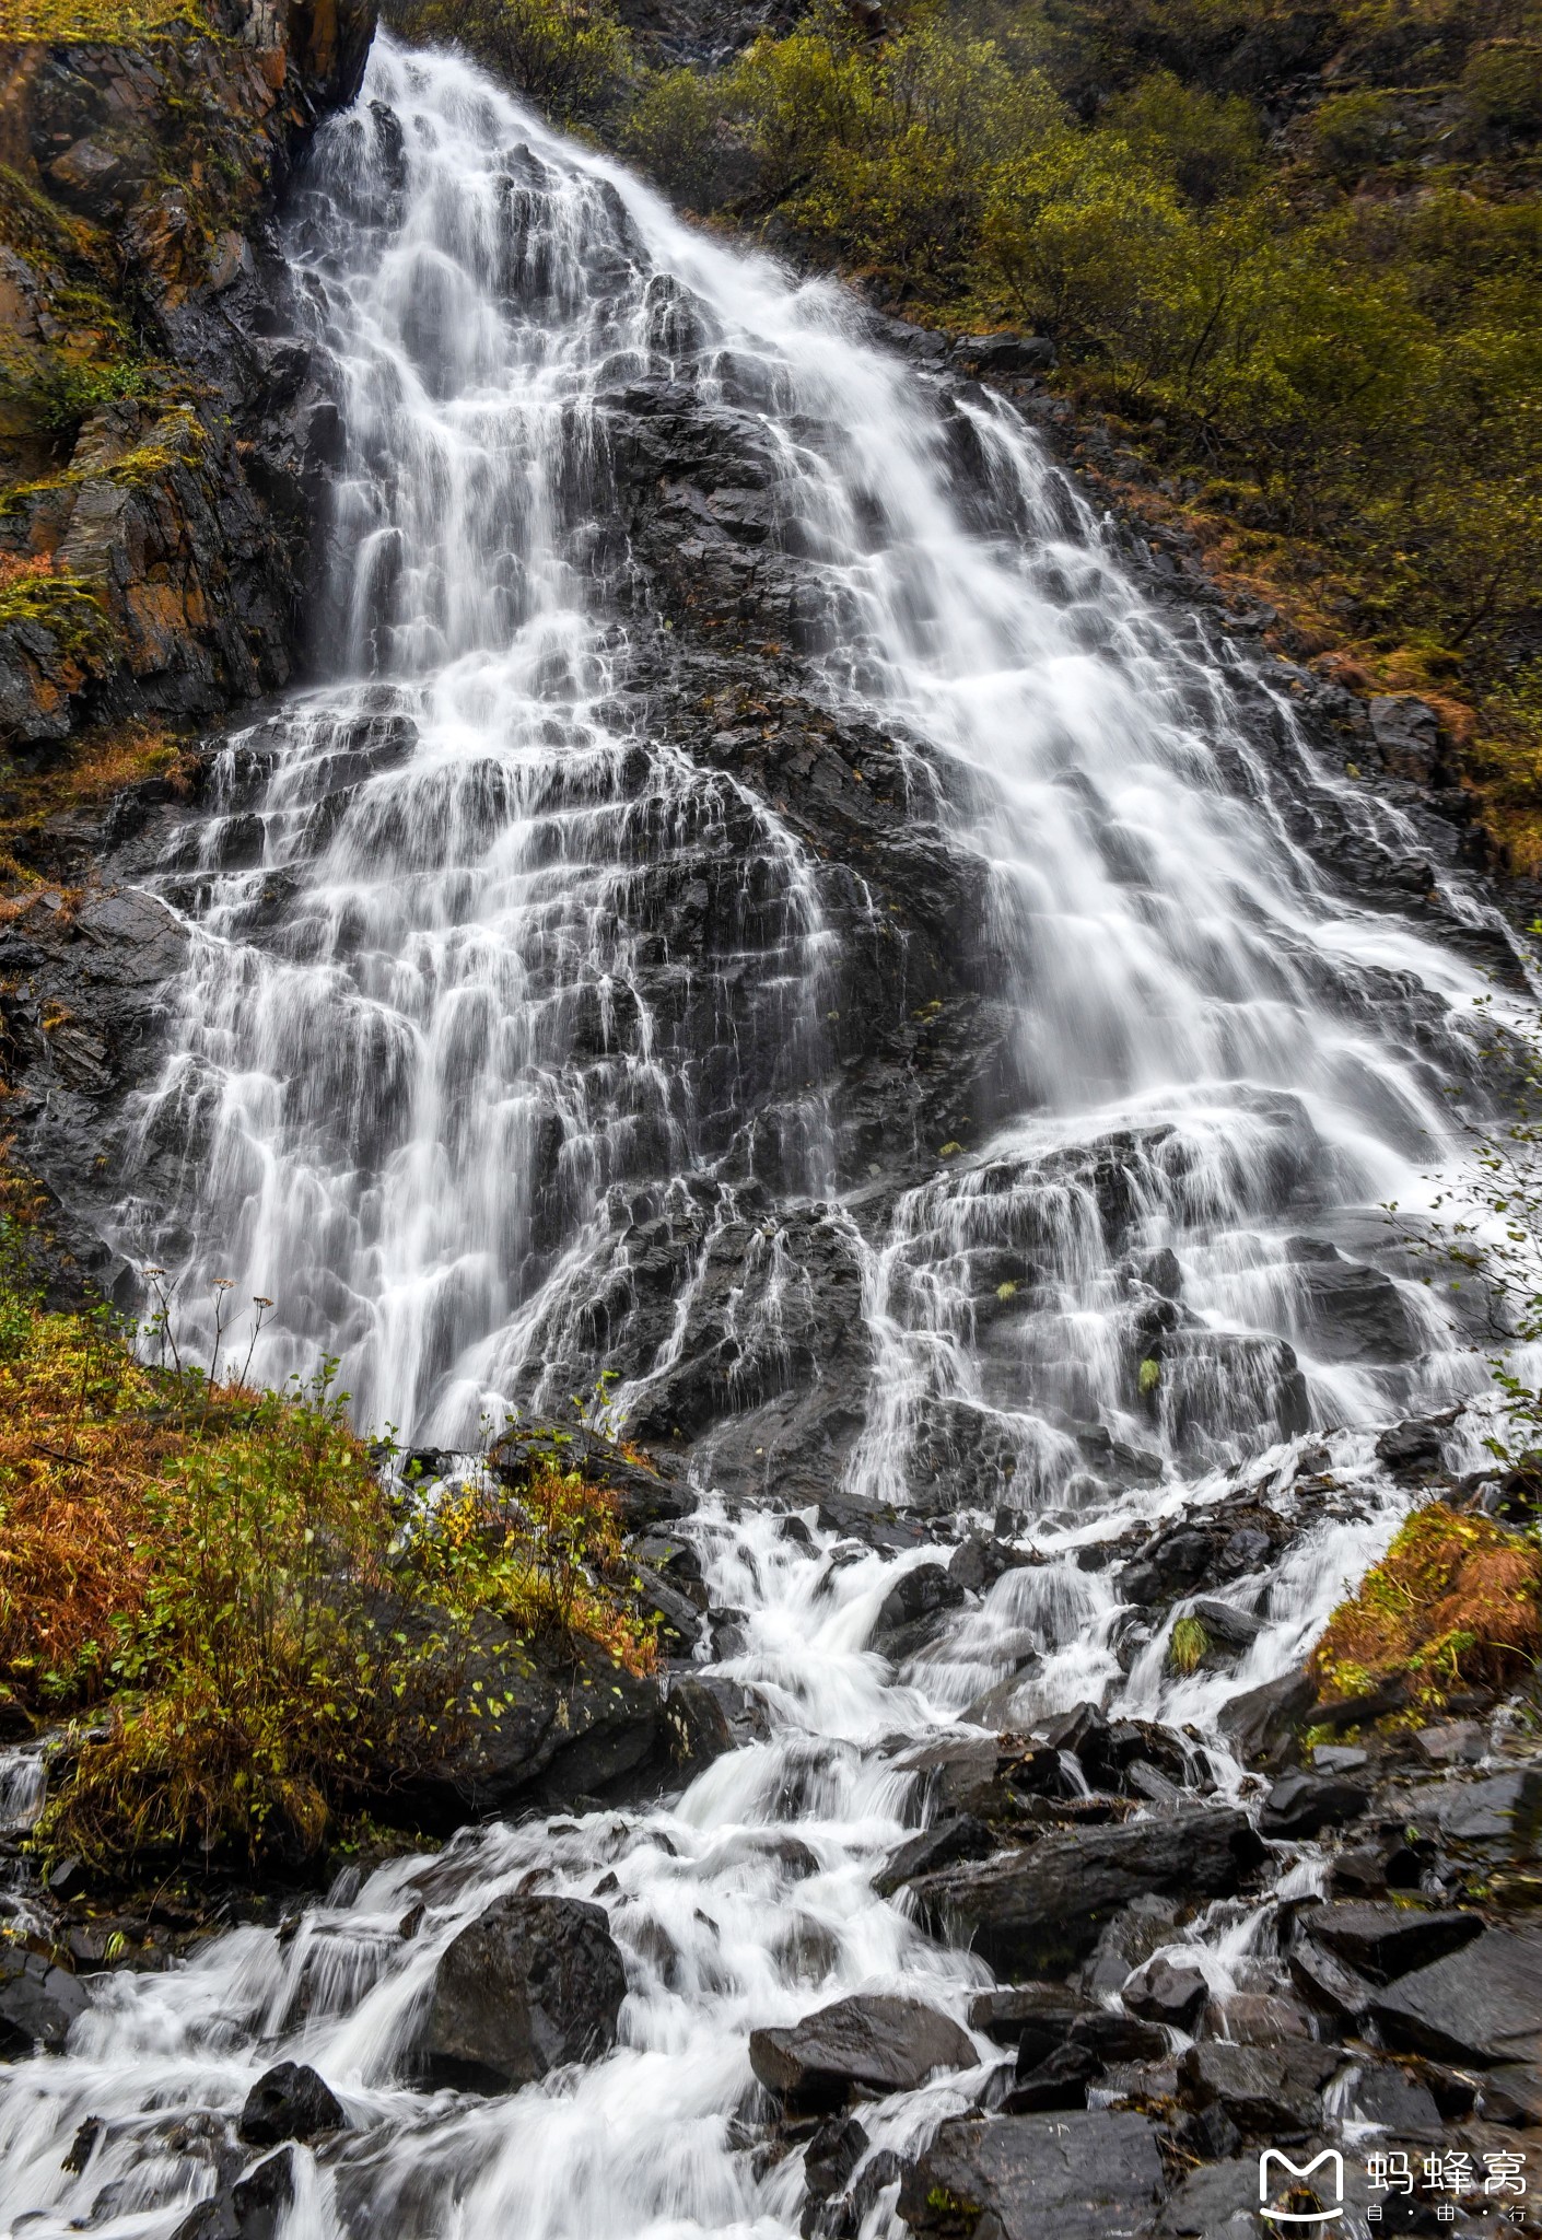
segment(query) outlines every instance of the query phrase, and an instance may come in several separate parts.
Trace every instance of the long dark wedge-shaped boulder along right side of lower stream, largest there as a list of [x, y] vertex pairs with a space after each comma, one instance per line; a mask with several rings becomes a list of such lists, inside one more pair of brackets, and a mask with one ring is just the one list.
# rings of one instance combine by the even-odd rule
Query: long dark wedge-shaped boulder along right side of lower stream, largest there
[[1262, 1846], [1230, 1805], [1044, 1837], [910, 1884], [923, 1920], [997, 1973], [1065, 1973], [1123, 1906], [1170, 1893], [1230, 1897]]

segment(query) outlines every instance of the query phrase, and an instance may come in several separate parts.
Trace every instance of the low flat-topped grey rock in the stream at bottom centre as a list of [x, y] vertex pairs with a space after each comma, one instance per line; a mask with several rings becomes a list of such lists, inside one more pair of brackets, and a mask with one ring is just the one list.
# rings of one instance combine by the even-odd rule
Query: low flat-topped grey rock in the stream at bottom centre
[[780, 2029], [755, 2029], [749, 2061], [769, 2092], [793, 2108], [838, 2108], [852, 2085], [912, 2092], [932, 2070], [979, 2056], [955, 2020], [919, 1998], [858, 1994]]

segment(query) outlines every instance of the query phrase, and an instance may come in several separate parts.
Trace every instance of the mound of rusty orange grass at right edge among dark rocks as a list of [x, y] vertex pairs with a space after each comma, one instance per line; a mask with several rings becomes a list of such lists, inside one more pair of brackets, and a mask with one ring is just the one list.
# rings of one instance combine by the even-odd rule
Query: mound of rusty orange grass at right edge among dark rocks
[[1334, 1611], [1311, 1655], [1327, 1696], [1410, 1680], [1416, 1700], [1508, 1687], [1542, 1658], [1542, 1550], [1488, 1516], [1432, 1501]]

